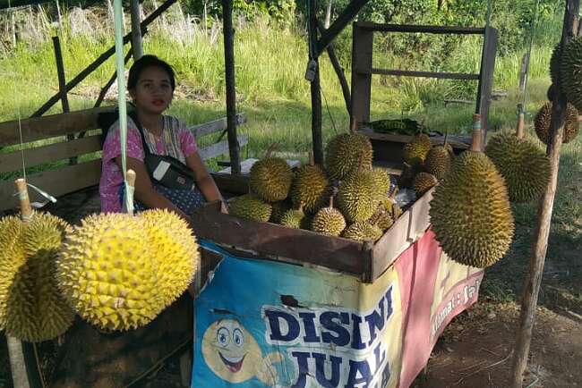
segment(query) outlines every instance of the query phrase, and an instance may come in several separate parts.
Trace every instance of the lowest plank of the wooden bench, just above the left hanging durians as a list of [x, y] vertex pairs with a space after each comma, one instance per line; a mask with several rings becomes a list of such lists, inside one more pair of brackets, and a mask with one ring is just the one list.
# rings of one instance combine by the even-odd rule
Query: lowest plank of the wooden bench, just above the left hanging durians
[[[101, 159], [26, 176], [27, 181], [54, 197], [94, 186], [98, 184], [100, 177]], [[0, 211], [18, 206], [18, 198], [13, 196], [13, 193], [13, 180], [0, 181], [0, 198], [3, 198], [0, 202]], [[30, 201], [46, 201], [46, 198], [41, 197], [36, 190], [29, 190], [29, 196]]]

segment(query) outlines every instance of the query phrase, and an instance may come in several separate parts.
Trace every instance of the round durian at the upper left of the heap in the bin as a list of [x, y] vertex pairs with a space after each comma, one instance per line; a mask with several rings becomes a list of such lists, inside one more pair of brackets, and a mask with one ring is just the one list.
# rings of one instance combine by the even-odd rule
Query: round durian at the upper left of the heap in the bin
[[252, 164], [249, 173], [251, 190], [266, 202], [287, 198], [291, 189], [293, 172], [280, 157], [267, 157]]

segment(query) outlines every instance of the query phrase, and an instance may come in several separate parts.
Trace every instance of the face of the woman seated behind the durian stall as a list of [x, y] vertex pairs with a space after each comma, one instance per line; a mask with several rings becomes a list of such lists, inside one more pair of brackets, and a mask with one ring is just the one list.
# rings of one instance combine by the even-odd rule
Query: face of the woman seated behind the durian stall
[[164, 112], [174, 96], [169, 75], [158, 66], [143, 70], [135, 89], [130, 89], [129, 92], [135, 106], [149, 114]]

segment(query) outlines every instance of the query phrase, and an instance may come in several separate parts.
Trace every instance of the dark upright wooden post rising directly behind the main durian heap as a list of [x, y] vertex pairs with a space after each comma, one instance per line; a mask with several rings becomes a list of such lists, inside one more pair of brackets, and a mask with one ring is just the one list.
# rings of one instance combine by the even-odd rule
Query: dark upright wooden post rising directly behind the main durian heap
[[320, 63], [315, 54], [317, 45], [317, 0], [309, 2], [309, 60], [315, 63], [315, 75], [311, 81], [312, 92], [312, 143], [316, 164], [323, 165], [323, 137], [321, 135], [321, 85]]

